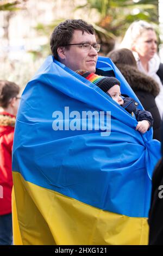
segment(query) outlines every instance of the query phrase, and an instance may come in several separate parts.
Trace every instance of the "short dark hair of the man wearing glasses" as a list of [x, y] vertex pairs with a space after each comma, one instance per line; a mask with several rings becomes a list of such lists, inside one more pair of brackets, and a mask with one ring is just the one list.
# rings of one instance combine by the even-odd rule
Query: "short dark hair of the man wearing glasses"
[[[61, 22], [53, 31], [51, 35], [51, 51], [55, 59], [58, 60], [57, 49], [60, 46], [70, 44], [74, 30], [80, 30], [89, 34], [95, 34], [95, 29], [92, 25], [88, 24], [83, 20], [66, 20]], [[69, 48], [68, 46], [66, 46]]]

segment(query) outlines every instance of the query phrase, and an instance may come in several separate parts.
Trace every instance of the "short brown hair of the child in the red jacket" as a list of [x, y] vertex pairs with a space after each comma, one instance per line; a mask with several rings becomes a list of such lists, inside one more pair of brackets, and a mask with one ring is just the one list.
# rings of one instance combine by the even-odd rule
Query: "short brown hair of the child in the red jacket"
[[16, 83], [0, 80], [0, 107], [7, 108], [10, 100], [18, 95], [20, 87]]

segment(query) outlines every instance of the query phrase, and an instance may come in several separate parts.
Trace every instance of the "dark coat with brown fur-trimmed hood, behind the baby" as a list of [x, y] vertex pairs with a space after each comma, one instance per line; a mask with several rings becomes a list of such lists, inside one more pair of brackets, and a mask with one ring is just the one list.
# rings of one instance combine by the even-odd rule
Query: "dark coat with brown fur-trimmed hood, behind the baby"
[[155, 97], [159, 94], [159, 86], [153, 78], [143, 74], [137, 68], [130, 65], [116, 64], [130, 87], [142, 103], [146, 111], [151, 112], [153, 122], [153, 138], [161, 141], [161, 118], [155, 103]]

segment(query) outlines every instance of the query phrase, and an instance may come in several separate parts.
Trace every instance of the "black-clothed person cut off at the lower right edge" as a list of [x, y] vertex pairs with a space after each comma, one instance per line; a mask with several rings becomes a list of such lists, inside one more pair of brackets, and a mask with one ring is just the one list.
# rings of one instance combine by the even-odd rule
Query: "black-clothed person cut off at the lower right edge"
[[[163, 122], [161, 153], [163, 156]], [[152, 197], [149, 209], [149, 245], [163, 245], [163, 157], [155, 167], [152, 177]]]

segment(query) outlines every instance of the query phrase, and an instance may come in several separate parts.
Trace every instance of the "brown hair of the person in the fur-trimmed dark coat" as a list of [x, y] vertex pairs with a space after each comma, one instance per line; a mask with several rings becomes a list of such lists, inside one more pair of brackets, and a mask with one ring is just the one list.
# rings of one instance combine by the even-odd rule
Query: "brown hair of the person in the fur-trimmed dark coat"
[[114, 62], [115, 65], [127, 64], [130, 66], [137, 67], [136, 60], [133, 53], [127, 48], [113, 50], [108, 53], [107, 57], [109, 57], [112, 60], [112, 62]]

